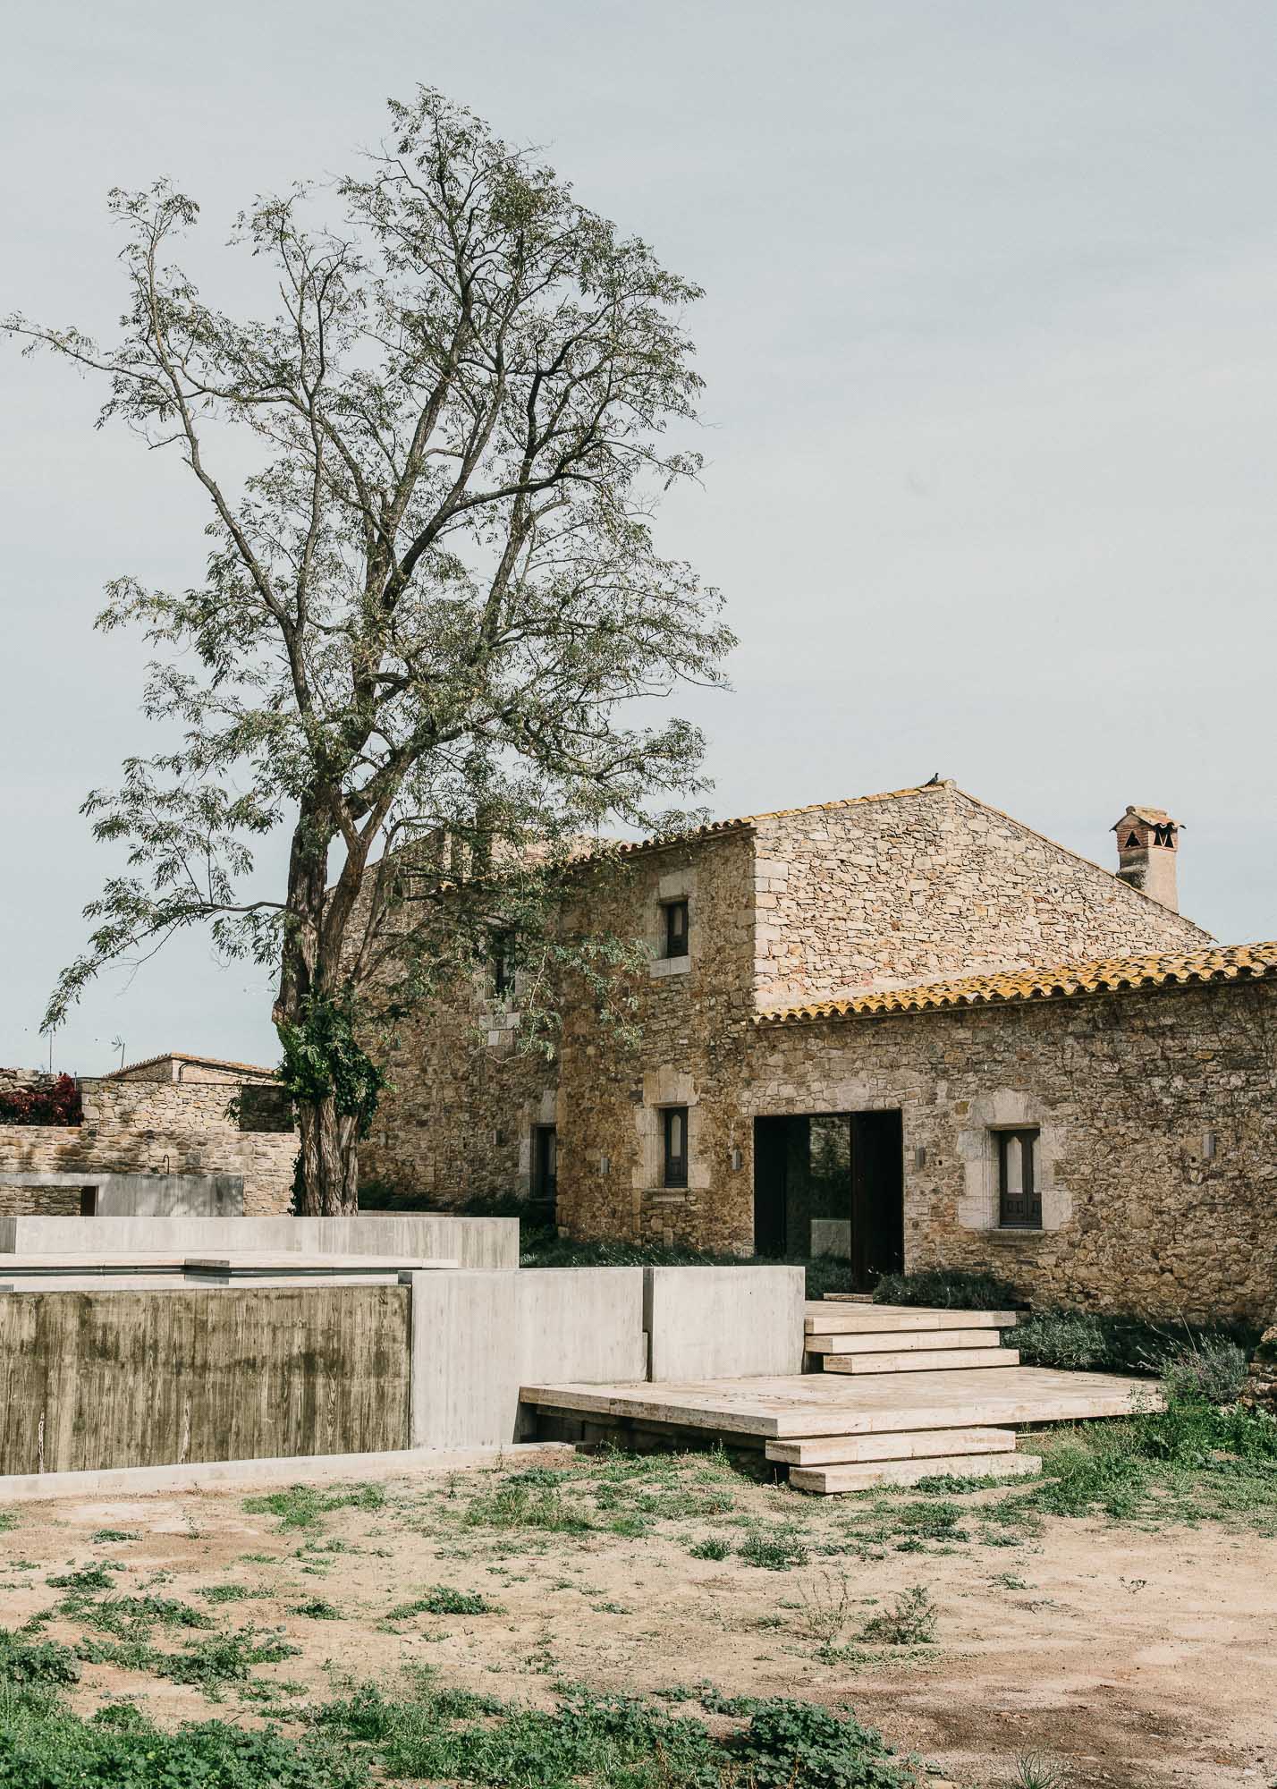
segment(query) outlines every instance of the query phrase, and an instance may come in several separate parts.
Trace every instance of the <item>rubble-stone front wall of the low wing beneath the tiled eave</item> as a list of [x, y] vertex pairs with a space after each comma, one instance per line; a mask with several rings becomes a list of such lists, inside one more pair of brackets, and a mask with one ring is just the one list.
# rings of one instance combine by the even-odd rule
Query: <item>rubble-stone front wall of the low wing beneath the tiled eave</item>
[[[1273, 1308], [1273, 982], [764, 1025], [742, 1104], [900, 1107], [909, 1268], [989, 1268], [1039, 1304]], [[1041, 1231], [996, 1227], [994, 1136], [1012, 1125], [1041, 1129]], [[724, 1242], [744, 1200], [719, 1175]]]

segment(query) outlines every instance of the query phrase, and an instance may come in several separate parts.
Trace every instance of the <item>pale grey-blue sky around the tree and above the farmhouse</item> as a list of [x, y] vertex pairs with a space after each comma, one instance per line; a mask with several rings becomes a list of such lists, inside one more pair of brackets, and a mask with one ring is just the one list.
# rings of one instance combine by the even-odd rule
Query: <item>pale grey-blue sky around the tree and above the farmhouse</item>
[[[740, 639], [678, 701], [715, 812], [939, 771], [1116, 866], [1125, 805], [1166, 807], [1182, 909], [1270, 939], [1275, 52], [1270, 0], [45, 0], [5, 29], [0, 311], [109, 335], [106, 195], [161, 174], [206, 295], [247, 299], [236, 211], [442, 88], [705, 286], [706, 469], [658, 537]], [[79, 803], [156, 744], [102, 587], [195, 581], [206, 540], [66, 365], [0, 342], [0, 1063], [32, 1066], [120, 869]], [[270, 1063], [268, 1011], [188, 937], [52, 1063]]]

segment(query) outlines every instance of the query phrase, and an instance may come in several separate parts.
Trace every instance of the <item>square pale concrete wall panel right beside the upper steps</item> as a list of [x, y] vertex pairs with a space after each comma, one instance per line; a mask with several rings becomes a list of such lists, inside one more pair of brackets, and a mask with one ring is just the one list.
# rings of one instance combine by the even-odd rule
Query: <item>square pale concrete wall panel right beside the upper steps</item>
[[653, 1379], [799, 1372], [801, 1267], [646, 1267]]

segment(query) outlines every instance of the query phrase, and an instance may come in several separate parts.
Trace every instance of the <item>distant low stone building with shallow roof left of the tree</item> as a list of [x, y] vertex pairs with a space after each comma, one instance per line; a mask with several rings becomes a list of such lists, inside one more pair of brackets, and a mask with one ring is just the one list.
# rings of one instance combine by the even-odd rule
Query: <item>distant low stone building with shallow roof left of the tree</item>
[[[52, 1079], [0, 1070], [0, 1091]], [[0, 1217], [288, 1211], [297, 1138], [274, 1070], [166, 1052], [79, 1091], [77, 1123], [0, 1123]]]

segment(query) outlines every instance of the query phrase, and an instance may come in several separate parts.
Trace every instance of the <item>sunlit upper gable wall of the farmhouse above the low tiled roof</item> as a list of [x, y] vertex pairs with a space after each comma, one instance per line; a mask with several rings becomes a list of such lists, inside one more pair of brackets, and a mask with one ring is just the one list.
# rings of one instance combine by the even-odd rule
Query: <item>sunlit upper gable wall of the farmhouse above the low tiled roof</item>
[[1211, 943], [953, 784], [760, 814], [753, 827], [755, 973], [767, 1007]]

